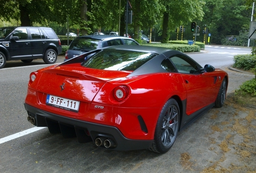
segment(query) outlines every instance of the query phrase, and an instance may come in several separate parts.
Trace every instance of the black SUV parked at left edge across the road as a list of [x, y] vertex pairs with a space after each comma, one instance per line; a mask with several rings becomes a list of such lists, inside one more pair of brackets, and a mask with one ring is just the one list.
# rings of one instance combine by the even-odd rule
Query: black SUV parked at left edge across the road
[[31, 62], [43, 58], [53, 64], [62, 51], [60, 39], [52, 28], [8, 26], [0, 28], [0, 69], [8, 60]]

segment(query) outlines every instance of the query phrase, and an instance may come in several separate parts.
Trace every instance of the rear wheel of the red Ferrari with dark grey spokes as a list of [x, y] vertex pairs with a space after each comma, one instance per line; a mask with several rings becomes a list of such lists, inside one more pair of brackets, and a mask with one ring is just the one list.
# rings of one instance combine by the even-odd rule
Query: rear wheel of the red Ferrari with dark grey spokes
[[169, 99], [159, 115], [155, 128], [155, 137], [149, 149], [157, 153], [166, 153], [172, 147], [179, 129], [180, 109], [175, 99]]

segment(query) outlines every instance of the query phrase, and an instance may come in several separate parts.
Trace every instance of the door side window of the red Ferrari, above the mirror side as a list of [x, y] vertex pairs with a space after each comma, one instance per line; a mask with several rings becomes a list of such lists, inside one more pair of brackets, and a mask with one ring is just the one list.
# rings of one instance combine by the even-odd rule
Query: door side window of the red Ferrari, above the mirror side
[[198, 66], [195, 62], [187, 58], [186, 56], [176, 55], [170, 58], [178, 72], [181, 73], [199, 73]]

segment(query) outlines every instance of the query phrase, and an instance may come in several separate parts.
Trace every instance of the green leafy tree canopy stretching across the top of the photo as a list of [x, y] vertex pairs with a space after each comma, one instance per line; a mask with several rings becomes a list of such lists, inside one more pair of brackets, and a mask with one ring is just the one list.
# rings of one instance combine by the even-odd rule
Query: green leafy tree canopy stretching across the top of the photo
[[[207, 27], [213, 42], [219, 43], [226, 35], [238, 35], [248, 30], [254, 0], [129, 0], [132, 24], [130, 35], [139, 38], [155, 27], [162, 42], [173, 39], [175, 28], [184, 25], [185, 38], [190, 38], [190, 24], [196, 21]], [[21, 26], [54, 26], [79, 29], [80, 34], [95, 30], [125, 33], [126, 0], [0, 0], [0, 19], [16, 20]], [[12, 23], [13, 24], [13, 23]], [[1, 22], [0, 22], [1, 25]], [[67, 28], [66, 28], [67, 29]], [[63, 31], [66, 32], [66, 31]], [[156, 34], [156, 33], [155, 33]], [[200, 36], [198, 37], [200, 38]]]

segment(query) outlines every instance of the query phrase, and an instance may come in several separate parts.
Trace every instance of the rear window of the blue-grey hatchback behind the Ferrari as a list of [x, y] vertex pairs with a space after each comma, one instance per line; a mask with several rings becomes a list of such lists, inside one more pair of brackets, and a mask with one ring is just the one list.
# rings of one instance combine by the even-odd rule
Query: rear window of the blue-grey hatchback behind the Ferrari
[[97, 49], [100, 40], [93, 38], [76, 38], [74, 39], [69, 49], [70, 50], [82, 50], [82, 51], [91, 51]]

